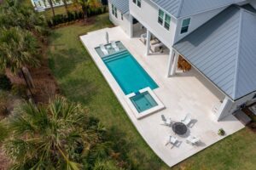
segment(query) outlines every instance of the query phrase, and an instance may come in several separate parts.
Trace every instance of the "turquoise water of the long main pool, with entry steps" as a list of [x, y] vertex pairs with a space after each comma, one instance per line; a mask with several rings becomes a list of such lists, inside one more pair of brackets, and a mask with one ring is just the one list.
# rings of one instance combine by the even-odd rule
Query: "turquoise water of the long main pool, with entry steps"
[[113, 74], [125, 94], [137, 93], [143, 88], [158, 88], [143, 67], [127, 50], [103, 57], [108, 70]]

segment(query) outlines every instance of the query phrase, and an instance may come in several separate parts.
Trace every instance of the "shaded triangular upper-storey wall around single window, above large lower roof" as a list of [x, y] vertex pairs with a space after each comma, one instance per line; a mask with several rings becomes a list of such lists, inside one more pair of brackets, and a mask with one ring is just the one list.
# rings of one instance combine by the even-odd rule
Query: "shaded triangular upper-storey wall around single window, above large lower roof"
[[[192, 16], [179, 18], [177, 20], [177, 31], [175, 33], [174, 42], [177, 42], [181, 40], [183, 37], [186, 37], [189, 33], [195, 31], [198, 27], [202, 26], [208, 20], [211, 20], [212, 17], [219, 14], [222, 10], [224, 10], [224, 8], [217, 8], [201, 14], [194, 14]], [[190, 18], [189, 31], [187, 33], [180, 34], [183, 20], [188, 18]]]

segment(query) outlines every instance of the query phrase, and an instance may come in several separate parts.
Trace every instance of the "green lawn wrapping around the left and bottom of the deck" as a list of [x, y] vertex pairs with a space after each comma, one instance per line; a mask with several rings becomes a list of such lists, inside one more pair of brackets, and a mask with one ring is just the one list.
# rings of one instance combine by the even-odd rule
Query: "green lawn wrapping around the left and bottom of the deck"
[[[101, 72], [79, 42], [79, 35], [107, 26], [111, 26], [108, 14], [102, 14], [96, 17], [93, 26], [73, 25], [53, 31], [49, 45], [49, 66], [61, 93], [90, 108], [90, 114], [108, 127], [122, 156], [131, 161], [134, 169], [169, 169], [137, 133]], [[246, 128], [172, 169], [255, 169], [255, 145], [256, 134]]]

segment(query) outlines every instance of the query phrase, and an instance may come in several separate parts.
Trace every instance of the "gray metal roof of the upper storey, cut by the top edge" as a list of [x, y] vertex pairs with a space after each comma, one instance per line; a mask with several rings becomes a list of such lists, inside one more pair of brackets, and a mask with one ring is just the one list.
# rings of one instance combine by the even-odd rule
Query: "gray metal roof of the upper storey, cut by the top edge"
[[246, 0], [151, 0], [172, 16], [179, 18], [191, 14], [201, 13], [212, 8], [227, 7]]

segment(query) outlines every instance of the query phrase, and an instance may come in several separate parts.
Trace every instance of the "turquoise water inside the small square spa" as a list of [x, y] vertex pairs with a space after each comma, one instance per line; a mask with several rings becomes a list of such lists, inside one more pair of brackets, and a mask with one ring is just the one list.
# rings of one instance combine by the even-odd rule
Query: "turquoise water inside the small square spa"
[[136, 107], [139, 113], [143, 111], [147, 111], [148, 109], [157, 105], [155, 100], [148, 92], [144, 92], [143, 94], [137, 94], [134, 97], [131, 97], [132, 104]]

